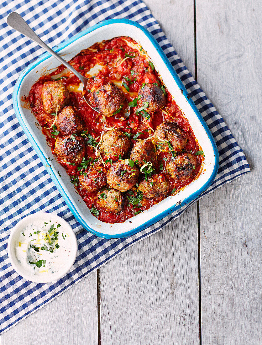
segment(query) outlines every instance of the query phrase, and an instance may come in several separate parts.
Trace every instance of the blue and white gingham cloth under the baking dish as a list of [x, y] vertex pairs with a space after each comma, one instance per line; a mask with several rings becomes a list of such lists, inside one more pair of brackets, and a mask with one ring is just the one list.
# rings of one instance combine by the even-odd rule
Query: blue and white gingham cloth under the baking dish
[[201, 197], [250, 171], [246, 158], [212, 103], [193, 79], [159, 24], [141, 0], [6, 0], [0, 4], [0, 333], [50, 302], [63, 291], [123, 252], [161, 230], [188, 207], [165, 217], [128, 238], [103, 239], [79, 232], [78, 257], [70, 273], [54, 284], [27, 282], [12, 268], [7, 240], [22, 217], [37, 211], [55, 212], [77, 232], [81, 226], [58, 193], [14, 114], [12, 92], [21, 71], [43, 49], [11, 30], [6, 16], [17, 11], [41, 38], [58, 45], [79, 31], [105, 19], [128, 18], [147, 28], [157, 39], [209, 126], [219, 150], [220, 166], [213, 184]]

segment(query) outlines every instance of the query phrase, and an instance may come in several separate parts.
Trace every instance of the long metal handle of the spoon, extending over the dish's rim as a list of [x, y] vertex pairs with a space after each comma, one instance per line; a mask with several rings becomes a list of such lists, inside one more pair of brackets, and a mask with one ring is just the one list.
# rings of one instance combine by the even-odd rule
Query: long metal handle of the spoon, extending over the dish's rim
[[28, 26], [28, 24], [23, 20], [23, 18], [17, 12], [11, 12], [8, 14], [7, 24], [11, 26], [11, 28], [21, 32], [24, 36], [30, 38], [34, 42], [36, 42], [39, 46], [47, 50], [54, 58], [59, 60], [64, 66], [66, 66], [72, 73], [74, 73], [82, 83], [84, 83], [85, 77], [83, 77], [77, 70], [75, 70], [69, 63], [62, 59], [56, 52], [54, 52], [51, 48], [49, 48], [46, 43], [44, 43], [40, 37]]

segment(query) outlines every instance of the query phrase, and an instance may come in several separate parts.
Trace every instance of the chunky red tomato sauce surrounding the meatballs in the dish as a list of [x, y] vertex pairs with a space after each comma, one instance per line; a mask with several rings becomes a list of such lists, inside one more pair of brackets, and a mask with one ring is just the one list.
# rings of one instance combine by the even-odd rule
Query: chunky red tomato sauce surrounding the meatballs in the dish
[[[90, 78], [87, 89], [84, 91], [86, 97], [89, 90], [95, 86], [103, 85], [108, 81], [114, 82], [119, 89], [123, 92], [128, 102], [134, 101], [138, 96], [138, 90], [143, 83], [157, 83], [162, 87], [166, 94], [167, 103], [164, 108], [156, 111], [150, 117], [146, 118], [140, 114], [137, 114], [138, 106], [131, 106], [131, 114], [127, 119], [123, 118], [123, 112], [119, 112], [112, 117], [104, 117], [98, 112], [91, 109], [87, 102], [83, 98], [81, 92], [81, 86], [79, 79], [71, 72], [65, 69], [64, 66], [60, 66], [56, 71], [49, 75], [42, 76], [31, 88], [29, 93], [29, 102], [31, 109], [36, 116], [42, 132], [46, 136], [48, 145], [51, 147], [54, 154], [54, 144], [58, 137], [62, 137], [61, 133], [56, 130], [54, 124], [54, 114], [46, 114], [42, 107], [41, 90], [45, 81], [59, 80], [65, 86], [67, 86], [70, 95], [69, 104], [76, 107], [84, 122], [85, 131], [82, 133], [82, 137], [86, 140], [86, 159], [96, 160], [96, 150], [94, 147], [88, 145], [88, 132], [97, 143], [100, 140], [101, 135], [108, 129], [117, 128], [123, 131], [131, 138], [132, 145], [135, 140], [146, 139], [149, 136], [154, 135], [154, 130], [163, 121], [175, 122], [189, 137], [188, 143], [182, 152], [191, 152], [195, 154], [200, 151], [201, 148], [198, 145], [192, 128], [188, 120], [183, 116], [181, 110], [175, 103], [169, 91], [163, 86], [161, 77], [158, 72], [155, 71], [152, 62], [150, 62], [146, 52], [137, 42], [133, 41], [130, 37], [116, 37], [109, 41], [103, 41], [95, 43], [92, 47], [82, 50], [77, 56], [75, 56], [70, 64], [79, 71], [82, 75]], [[93, 68], [99, 65], [99, 70], [96, 70], [94, 75], [91, 73]], [[134, 139], [135, 136], [135, 139]], [[90, 137], [89, 137], [90, 143]], [[158, 162], [155, 166], [155, 172], [163, 173], [165, 171], [165, 165], [167, 164], [168, 156], [170, 155], [169, 148], [164, 148], [164, 151], [158, 150]], [[128, 158], [128, 157], [125, 157]], [[79, 169], [78, 166], [70, 165], [62, 162], [57, 157], [58, 162], [66, 169], [68, 175], [71, 177], [71, 183], [75, 185], [77, 193], [83, 198], [85, 204], [92, 209], [95, 207], [97, 212], [94, 214], [98, 219], [107, 223], [120, 223], [134, 215], [140, 213], [143, 210], [149, 209], [154, 204], [159, 203], [165, 197], [174, 195], [186, 185], [190, 184], [201, 171], [203, 156], [201, 154], [196, 155], [197, 164], [195, 166], [193, 175], [187, 180], [177, 181], [170, 177], [168, 174], [166, 177], [170, 182], [169, 193], [166, 196], [157, 197], [155, 199], [147, 200], [143, 198], [141, 200], [140, 207], [134, 206], [129, 203], [125, 198], [124, 207], [118, 214], [104, 211], [97, 204], [97, 192], [88, 193], [78, 183]], [[111, 157], [112, 162], [118, 158]], [[105, 163], [105, 168], [108, 169], [111, 166], [111, 162]], [[140, 177], [139, 181], [142, 179]], [[138, 183], [139, 183], [138, 181]], [[133, 193], [136, 193], [136, 188], [133, 188]], [[128, 192], [127, 192], [128, 193]]]

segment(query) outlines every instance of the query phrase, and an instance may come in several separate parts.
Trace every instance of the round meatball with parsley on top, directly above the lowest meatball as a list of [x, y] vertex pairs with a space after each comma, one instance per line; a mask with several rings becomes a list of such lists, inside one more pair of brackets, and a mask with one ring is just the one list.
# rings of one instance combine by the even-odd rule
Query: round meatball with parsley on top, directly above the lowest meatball
[[132, 188], [138, 180], [139, 170], [131, 167], [126, 160], [115, 162], [107, 172], [107, 183], [110, 187], [125, 192]]

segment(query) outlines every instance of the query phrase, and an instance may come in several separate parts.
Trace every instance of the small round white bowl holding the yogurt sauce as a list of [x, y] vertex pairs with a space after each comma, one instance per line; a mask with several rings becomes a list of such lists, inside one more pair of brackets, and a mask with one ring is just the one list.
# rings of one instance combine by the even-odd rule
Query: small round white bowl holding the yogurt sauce
[[[29, 273], [26, 269], [24, 269], [18, 262], [18, 259], [16, 257], [16, 249], [15, 249], [21, 230], [23, 230], [29, 223], [34, 223], [34, 221], [47, 221], [47, 219], [53, 222], [56, 222], [56, 221], [59, 222], [59, 224], [61, 224], [61, 226], [63, 226], [64, 229], [66, 229], [67, 233], [70, 234], [71, 253], [72, 253], [71, 256], [66, 261], [66, 266], [64, 266], [58, 272], [53, 273], [50, 276], [50, 278], [33, 275]], [[75, 236], [75, 233], [66, 220], [52, 213], [37, 212], [21, 219], [17, 223], [17, 225], [11, 230], [11, 234], [8, 239], [7, 252], [8, 252], [8, 257], [9, 257], [12, 267], [16, 270], [16, 272], [20, 276], [35, 283], [50, 283], [62, 278], [63, 276], [67, 274], [67, 272], [73, 266], [75, 262], [75, 258], [77, 257], [77, 247], [78, 247], [77, 238]]]

